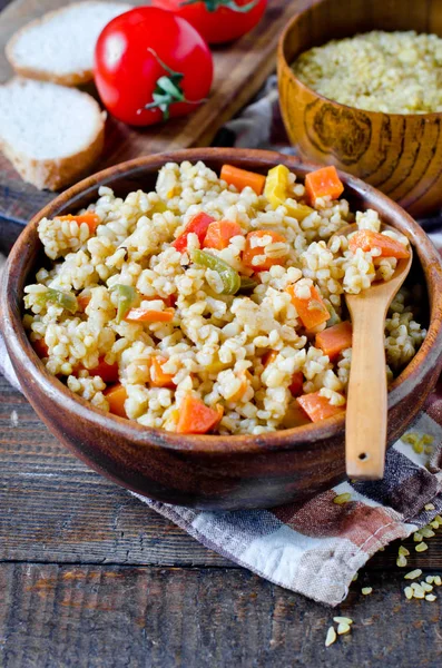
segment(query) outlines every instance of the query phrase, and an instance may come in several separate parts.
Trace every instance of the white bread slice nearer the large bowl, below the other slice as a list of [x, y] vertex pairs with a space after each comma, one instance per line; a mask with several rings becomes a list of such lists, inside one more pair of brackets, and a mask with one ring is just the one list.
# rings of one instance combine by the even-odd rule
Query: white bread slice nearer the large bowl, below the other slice
[[37, 188], [57, 190], [102, 150], [106, 114], [76, 88], [12, 79], [0, 86], [0, 149]]

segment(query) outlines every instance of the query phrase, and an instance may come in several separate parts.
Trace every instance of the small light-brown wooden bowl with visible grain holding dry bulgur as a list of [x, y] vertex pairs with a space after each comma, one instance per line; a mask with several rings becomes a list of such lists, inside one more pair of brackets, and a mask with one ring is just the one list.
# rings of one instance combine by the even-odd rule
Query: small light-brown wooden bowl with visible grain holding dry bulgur
[[442, 36], [436, 0], [316, 0], [281, 37], [281, 109], [304, 159], [334, 164], [422, 217], [442, 206], [442, 114], [381, 114], [332, 101], [297, 79], [291, 65], [331, 39], [370, 30]]

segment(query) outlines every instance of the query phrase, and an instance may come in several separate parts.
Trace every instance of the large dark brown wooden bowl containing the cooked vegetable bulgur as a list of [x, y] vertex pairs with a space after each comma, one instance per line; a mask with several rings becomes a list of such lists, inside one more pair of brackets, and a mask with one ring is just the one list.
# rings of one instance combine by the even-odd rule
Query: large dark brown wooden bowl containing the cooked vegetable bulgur
[[[92, 469], [130, 490], [205, 509], [272, 507], [305, 499], [345, 478], [343, 416], [258, 436], [180, 435], [144, 428], [92, 407], [49, 375], [23, 330], [23, 286], [33, 279], [42, 259], [38, 222], [88, 205], [97, 198], [100, 185], [120, 196], [149, 189], [158, 168], [170, 160], [204, 160], [217, 171], [230, 163], [263, 174], [283, 163], [301, 178], [312, 169], [276, 153], [198, 148], [138, 158], [73, 186], [31, 220], [11, 252], [0, 306], [12, 364], [24, 394], [50, 431]], [[342, 179], [351, 206], [377, 209], [385, 223], [410, 238], [428, 288], [428, 336], [389, 395], [391, 443], [422, 407], [442, 366], [442, 268], [425, 233], [403, 209], [352, 176], [342, 175]]]

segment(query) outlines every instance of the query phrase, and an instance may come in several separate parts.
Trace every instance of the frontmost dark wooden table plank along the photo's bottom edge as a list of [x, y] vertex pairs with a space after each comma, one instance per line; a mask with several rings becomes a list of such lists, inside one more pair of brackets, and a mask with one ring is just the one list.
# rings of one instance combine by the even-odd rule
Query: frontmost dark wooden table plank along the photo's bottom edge
[[[403, 581], [377, 573], [335, 610], [225, 569], [0, 567], [4, 668], [340, 666], [435, 668], [442, 597], [407, 601]], [[352, 633], [326, 649], [333, 616]], [[394, 633], [392, 621], [394, 620]]]

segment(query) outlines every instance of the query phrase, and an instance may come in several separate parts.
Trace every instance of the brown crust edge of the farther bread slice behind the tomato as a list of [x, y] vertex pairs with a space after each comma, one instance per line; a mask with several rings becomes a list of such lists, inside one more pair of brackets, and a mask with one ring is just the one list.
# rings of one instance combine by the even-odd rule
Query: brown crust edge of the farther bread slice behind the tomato
[[[66, 75], [59, 75], [51, 70], [43, 70], [43, 69], [37, 69], [37, 68], [32, 68], [32, 67], [20, 66], [16, 61], [14, 53], [13, 53], [17, 40], [19, 38], [21, 38], [21, 36], [24, 35], [29, 30], [29, 28], [39, 27], [42, 23], [51, 21], [55, 16], [57, 16], [61, 12], [65, 12], [67, 9], [71, 9], [72, 7], [85, 6], [85, 4], [96, 4], [96, 1], [88, 2], [86, 0], [86, 2], [73, 2], [72, 4], [61, 7], [60, 9], [55, 9], [52, 11], [48, 11], [42, 17], [35, 19], [33, 21], [30, 21], [29, 23], [27, 23], [26, 26], [23, 26], [22, 28], [17, 30], [17, 32], [14, 32], [12, 35], [12, 37], [9, 39], [9, 41], [4, 48], [4, 52], [6, 52], [8, 62], [10, 63], [10, 66], [12, 67], [14, 72], [17, 72], [17, 75], [19, 75], [20, 77], [24, 77], [27, 79], [37, 79], [38, 81], [50, 81], [51, 84], [59, 84], [60, 86], [70, 86], [70, 87], [82, 86], [84, 84], [91, 81], [94, 79], [94, 70], [92, 69], [84, 70], [84, 71], [76, 71], [76, 72], [72, 71], [72, 72], [68, 72]], [[104, 2], [104, 4], [118, 4], [118, 2], [109, 2], [109, 3]], [[122, 8], [121, 13], [124, 11], [127, 11], [127, 8], [130, 7], [129, 4], [126, 4], [124, 2], [121, 2], [120, 4]]]

